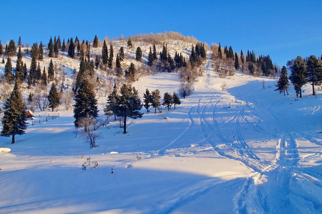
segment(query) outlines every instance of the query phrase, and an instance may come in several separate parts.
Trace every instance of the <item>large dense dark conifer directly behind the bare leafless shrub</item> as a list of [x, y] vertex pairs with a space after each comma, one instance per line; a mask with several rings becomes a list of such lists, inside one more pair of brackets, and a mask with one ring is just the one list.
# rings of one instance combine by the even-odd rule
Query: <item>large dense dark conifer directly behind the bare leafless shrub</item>
[[79, 121], [81, 118], [91, 117], [96, 118], [98, 116], [97, 100], [95, 98], [94, 87], [90, 81], [84, 79], [75, 96], [74, 104], [74, 118], [75, 126], [79, 127]]

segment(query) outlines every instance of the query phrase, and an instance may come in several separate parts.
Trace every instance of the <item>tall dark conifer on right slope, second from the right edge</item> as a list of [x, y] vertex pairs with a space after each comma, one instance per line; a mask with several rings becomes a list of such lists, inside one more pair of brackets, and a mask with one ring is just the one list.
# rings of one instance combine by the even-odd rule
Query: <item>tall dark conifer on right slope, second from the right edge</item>
[[290, 66], [291, 75], [289, 76], [289, 80], [294, 85], [294, 89], [297, 93], [299, 93], [300, 98], [302, 97], [302, 89], [301, 87], [307, 83], [307, 79], [305, 77], [306, 64], [302, 57], [298, 56], [293, 65]]

